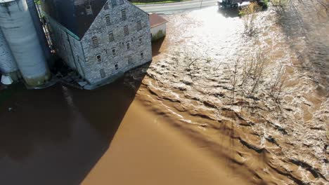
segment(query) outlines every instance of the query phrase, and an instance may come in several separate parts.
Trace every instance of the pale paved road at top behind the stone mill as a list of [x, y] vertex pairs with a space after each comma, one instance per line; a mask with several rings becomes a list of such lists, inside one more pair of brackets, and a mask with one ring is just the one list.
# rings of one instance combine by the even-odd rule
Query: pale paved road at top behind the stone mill
[[186, 11], [188, 9], [196, 9], [206, 6], [214, 6], [217, 4], [216, 0], [192, 0], [172, 4], [147, 4], [138, 5], [143, 11], [148, 13], [174, 13], [179, 11]]

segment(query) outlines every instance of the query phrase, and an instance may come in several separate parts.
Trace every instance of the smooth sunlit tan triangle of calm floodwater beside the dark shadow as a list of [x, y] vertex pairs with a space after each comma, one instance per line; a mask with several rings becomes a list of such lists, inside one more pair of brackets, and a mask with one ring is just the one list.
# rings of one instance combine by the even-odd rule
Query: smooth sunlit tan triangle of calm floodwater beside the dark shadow
[[250, 184], [170, 122], [133, 102], [110, 148], [82, 184]]

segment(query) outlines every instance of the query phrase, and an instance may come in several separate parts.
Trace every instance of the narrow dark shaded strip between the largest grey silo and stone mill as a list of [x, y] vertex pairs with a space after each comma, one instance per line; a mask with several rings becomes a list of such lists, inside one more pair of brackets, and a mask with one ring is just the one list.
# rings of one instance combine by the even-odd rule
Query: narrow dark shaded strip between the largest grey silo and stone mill
[[42, 27], [40, 22], [37, 7], [34, 3], [34, 0], [27, 0], [26, 2], [33, 20], [34, 27], [39, 37], [39, 42], [42, 46], [42, 49], [44, 50], [44, 56], [46, 57], [46, 60], [49, 61], [51, 59], [51, 52], [50, 52], [48, 41], [46, 39], [46, 35], [44, 34], [44, 28]]

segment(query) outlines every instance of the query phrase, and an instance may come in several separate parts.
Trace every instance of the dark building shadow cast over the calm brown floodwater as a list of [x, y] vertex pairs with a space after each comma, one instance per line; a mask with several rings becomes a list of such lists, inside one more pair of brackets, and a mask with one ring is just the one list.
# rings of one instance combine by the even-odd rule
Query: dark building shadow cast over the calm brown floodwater
[[108, 150], [145, 73], [138, 76], [134, 89], [127, 76], [92, 91], [11, 88], [0, 102], [1, 184], [80, 184]]

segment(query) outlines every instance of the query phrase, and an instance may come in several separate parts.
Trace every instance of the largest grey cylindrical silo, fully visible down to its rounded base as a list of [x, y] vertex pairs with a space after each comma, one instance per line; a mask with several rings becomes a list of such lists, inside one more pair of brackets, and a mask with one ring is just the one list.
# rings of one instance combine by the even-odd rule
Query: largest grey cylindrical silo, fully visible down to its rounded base
[[46, 83], [50, 72], [25, 0], [0, 0], [0, 27], [25, 83]]

